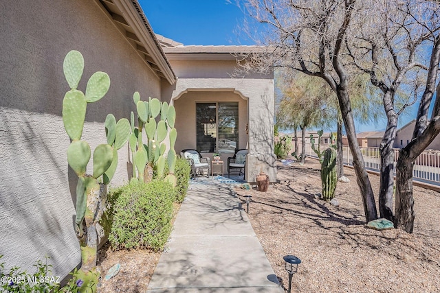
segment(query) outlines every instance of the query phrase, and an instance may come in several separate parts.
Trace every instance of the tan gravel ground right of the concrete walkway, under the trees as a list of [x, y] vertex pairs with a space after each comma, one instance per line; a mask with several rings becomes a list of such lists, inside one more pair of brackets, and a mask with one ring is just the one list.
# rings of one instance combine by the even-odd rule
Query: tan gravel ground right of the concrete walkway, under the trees
[[[336, 187], [340, 207], [315, 198], [321, 183], [313, 159], [278, 163], [280, 182], [267, 192], [236, 189], [243, 202], [252, 195], [250, 222], [283, 286], [283, 256], [292, 254], [303, 261], [292, 292], [440, 292], [440, 194], [414, 187], [414, 233], [375, 231], [364, 228], [353, 169], [344, 172], [351, 182]], [[379, 176], [369, 177], [377, 192]]]

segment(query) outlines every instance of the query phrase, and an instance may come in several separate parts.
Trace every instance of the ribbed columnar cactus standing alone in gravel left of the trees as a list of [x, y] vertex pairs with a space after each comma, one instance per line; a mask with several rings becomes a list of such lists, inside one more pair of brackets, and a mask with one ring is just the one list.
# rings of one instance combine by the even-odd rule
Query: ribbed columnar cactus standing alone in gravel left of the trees
[[322, 200], [332, 200], [335, 197], [336, 183], [336, 150], [327, 148], [321, 165]]

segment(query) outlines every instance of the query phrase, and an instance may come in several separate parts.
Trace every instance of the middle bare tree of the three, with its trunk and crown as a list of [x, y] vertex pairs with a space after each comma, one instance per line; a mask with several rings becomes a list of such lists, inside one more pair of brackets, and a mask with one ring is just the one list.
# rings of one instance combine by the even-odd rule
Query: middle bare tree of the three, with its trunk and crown
[[[392, 221], [397, 122], [399, 115], [417, 101], [420, 71], [426, 69], [419, 55], [430, 38], [420, 26], [411, 25], [410, 2], [415, 4], [400, 0], [369, 1], [364, 8], [368, 19], [351, 30], [351, 38], [345, 40], [355, 67], [369, 74], [371, 83], [382, 91], [387, 125], [380, 144], [379, 209], [381, 218]], [[404, 93], [399, 95], [399, 88]]]

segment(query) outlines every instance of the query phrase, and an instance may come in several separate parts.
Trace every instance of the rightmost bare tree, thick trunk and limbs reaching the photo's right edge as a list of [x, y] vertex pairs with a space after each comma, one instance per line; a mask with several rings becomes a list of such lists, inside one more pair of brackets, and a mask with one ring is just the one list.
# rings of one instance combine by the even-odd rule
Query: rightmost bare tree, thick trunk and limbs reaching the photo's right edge
[[[428, 111], [432, 102], [440, 62], [440, 4], [438, 1], [406, 1], [400, 6], [408, 14], [408, 26], [416, 27], [419, 34], [427, 36], [424, 43], [430, 47], [425, 53], [429, 59], [424, 91], [417, 111], [412, 141], [399, 152], [396, 165], [396, 215], [395, 225], [408, 233], [414, 228], [414, 197], [412, 196], [412, 168], [417, 156], [425, 150], [440, 132], [440, 101], [435, 99], [431, 119]], [[417, 5], [416, 5], [417, 4]], [[437, 97], [440, 86], [437, 84]]]

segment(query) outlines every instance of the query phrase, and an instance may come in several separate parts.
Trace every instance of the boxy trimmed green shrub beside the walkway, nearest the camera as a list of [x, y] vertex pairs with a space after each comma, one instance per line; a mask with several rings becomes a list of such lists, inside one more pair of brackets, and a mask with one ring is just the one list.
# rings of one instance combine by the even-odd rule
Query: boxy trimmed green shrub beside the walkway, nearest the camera
[[159, 179], [131, 182], [111, 191], [111, 247], [162, 249], [171, 232], [174, 199], [173, 186]]

